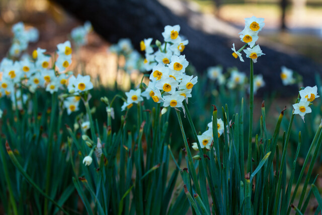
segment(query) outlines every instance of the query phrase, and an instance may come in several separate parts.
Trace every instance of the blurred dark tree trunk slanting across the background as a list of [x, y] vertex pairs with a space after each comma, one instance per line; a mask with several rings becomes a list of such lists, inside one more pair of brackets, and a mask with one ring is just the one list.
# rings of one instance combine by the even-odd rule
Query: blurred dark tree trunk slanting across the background
[[[181, 26], [180, 34], [187, 37], [189, 45], [184, 54], [187, 60], [195, 66], [198, 72], [203, 72], [209, 66], [221, 64], [223, 67], [236, 66], [239, 70], [249, 73], [249, 59], [244, 57], [244, 63], [231, 55], [232, 42], [241, 47], [243, 42], [238, 42], [219, 36], [209, 35], [191, 28], [187, 21], [174, 15], [168, 8], [156, 0], [51, 0], [61, 5], [72, 15], [86, 21], [91, 21], [95, 31], [111, 43], [116, 43], [120, 38], [130, 38], [136, 49], [143, 38], [152, 37], [162, 41], [162, 32], [166, 25]], [[240, 18], [242, 19], [242, 18]], [[302, 76], [304, 85], [314, 83], [314, 72], [321, 74], [320, 66], [311, 60], [296, 55], [286, 54], [270, 47], [261, 46], [265, 56], [261, 56], [255, 63], [255, 74], [263, 74], [266, 82], [264, 90], [277, 90], [296, 92], [293, 86], [286, 90], [280, 80], [281, 66], [285, 65], [296, 70]], [[245, 56], [245, 54], [244, 54]], [[283, 92], [283, 93], [282, 93]]]

